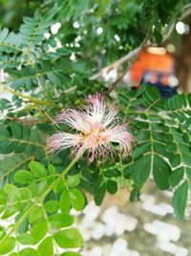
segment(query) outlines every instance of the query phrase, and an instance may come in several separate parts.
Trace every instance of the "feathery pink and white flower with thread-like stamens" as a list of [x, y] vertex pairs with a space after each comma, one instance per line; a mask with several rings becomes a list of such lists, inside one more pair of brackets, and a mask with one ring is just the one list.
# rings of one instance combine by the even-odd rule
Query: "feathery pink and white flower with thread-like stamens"
[[134, 137], [126, 130], [126, 125], [117, 124], [117, 111], [107, 105], [103, 95], [91, 96], [81, 109], [67, 109], [55, 121], [74, 129], [74, 133], [58, 132], [48, 140], [48, 151], [63, 151], [74, 148], [80, 157], [88, 152], [90, 161], [96, 156], [108, 157], [114, 151], [114, 143], [120, 151], [128, 154], [132, 150]]

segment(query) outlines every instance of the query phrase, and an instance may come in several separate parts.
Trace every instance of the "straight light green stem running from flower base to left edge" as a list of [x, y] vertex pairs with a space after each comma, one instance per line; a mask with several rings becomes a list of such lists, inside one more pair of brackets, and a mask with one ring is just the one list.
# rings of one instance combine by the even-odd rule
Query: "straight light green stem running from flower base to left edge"
[[25, 212], [25, 214], [18, 220], [15, 222], [14, 226], [11, 228], [10, 232], [7, 233], [7, 235], [5, 237], [3, 237], [3, 239], [0, 241], [1, 243], [3, 243], [6, 238], [8, 238], [9, 236], [11, 236], [11, 233], [16, 230], [16, 228], [19, 227], [20, 224], [22, 224], [23, 221], [25, 221], [25, 219], [32, 213], [33, 208], [40, 203], [44, 198], [47, 197], [47, 195], [53, 190], [53, 187], [57, 185], [57, 183], [60, 181], [60, 179], [62, 179], [65, 175], [67, 175], [69, 173], [69, 171], [73, 168], [74, 164], [77, 162], [78, 160], [78, 156], [75, 156], [73, 161], [64, 169], [64, 171], [57, 177], [57, 179], [55, 179], [53, 181], [53, 183], [49, 186], [49, 188], [42, 194], [41, 197], [39, 197], [33, 204], [32, 206]]

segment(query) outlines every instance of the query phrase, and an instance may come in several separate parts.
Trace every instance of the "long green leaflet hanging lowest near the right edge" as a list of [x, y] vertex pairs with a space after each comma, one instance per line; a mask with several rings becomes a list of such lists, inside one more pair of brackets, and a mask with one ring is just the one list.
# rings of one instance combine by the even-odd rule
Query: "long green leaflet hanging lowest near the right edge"
[[175, 191], [172, 198], [172, 204], [176, 216], [182, 220], [185, 212], [186, 201], [188, 197], [188, 182], [184, 181]]

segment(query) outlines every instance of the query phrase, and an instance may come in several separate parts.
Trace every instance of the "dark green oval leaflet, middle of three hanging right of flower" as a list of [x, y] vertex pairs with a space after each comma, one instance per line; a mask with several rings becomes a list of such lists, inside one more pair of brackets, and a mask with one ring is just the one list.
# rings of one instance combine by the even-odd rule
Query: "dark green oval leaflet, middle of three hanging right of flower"
[[154, 155], [153, 161], [153, 177], [160, 190], [165, 190], [169, 187], [170, 167], [158, 155]]

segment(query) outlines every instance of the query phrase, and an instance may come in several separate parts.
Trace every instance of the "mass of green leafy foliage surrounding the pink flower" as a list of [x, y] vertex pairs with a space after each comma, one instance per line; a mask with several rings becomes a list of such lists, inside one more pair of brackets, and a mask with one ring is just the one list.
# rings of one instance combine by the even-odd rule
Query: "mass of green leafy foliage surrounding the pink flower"
[[[115, 194], [126, 186], [134, 200], [151, 175], [160, 190], [176, 191], [173, 206], [183, 218], [191, 178], [191, 95], [162, 100], [155, 88], [142, 86], [138, 91], [117, 88], [113, 98], [110, 81], [90, 78], [145, 39], [161, 43], [188, 3], [1, 1], [0, 68], [7, 78], [0, 89], [11, 98], [0, 99], [0, 212], [4, 220], [15, 218], [10, 230], [0, 227], [0, 254], [11, 252], [16, 243], [40, 242], [37, 250], [28, 247], [19, 253], [37, 256], [45, 255], [47, 244], [50, 256], [56, 244], [63, 249], [82, 246], [80, 234], [70, 227], [70, 210], [81, 211], [87, 202], [82, 191], [99, 205], [106, 192]], [[59, 25], [56, 32], [53, 25]], [[53, 117], [100, 92], [119, 106], [120, 118], [131, 121], [136, 137], [131, 155], [93, 163], [86, 158], [71, 163], [70, 150], [49, 155], [47, 136], [67, 131], [55, 126]]]

